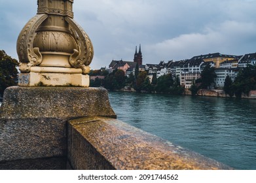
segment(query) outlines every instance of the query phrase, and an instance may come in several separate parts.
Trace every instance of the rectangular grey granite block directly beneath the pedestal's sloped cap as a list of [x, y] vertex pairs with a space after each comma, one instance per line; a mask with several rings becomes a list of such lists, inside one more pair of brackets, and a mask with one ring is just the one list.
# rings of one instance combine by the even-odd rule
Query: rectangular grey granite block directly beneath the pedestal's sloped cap
[[66, 120], [2, 119], [0, 161], [66, 156]]

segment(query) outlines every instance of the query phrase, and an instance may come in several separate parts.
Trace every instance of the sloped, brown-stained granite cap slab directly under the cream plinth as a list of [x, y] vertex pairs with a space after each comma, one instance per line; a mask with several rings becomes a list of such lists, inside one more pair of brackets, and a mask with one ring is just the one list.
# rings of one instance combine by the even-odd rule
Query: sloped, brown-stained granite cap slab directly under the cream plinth
[[75, 87], [7, 88], [0, 118], [77, 118], [106, 116], [116, 118], [109, 105], [107, 90]]

